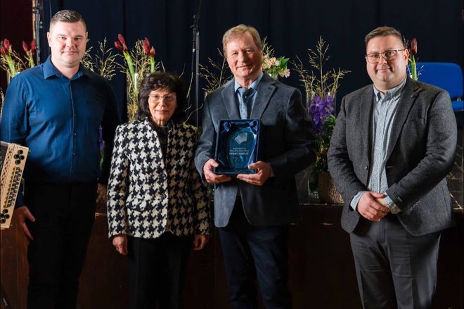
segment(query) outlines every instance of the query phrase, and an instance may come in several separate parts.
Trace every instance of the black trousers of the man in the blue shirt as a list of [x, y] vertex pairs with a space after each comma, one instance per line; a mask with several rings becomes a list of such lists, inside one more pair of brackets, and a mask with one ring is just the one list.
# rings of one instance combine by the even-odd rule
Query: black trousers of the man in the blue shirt
[[34, 240], [27, 248], [27, 308], [76, 308], [77, 287], [95, 220], [96, 183], [25, 184], [27, 222]]

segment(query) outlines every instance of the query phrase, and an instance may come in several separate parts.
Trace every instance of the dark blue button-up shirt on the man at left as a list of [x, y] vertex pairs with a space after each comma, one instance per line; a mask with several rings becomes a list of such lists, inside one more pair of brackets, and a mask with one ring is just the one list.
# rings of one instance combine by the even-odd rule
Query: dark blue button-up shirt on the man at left
[[[50, 58], [16, 75], [5, 95], [1, 140], [27, 146], [28, 182], [108, 182], [121, 118], [108, 80], [80, 65], [71, 79]], [[105, 142], [102, 169], [99, 127]], [[18, 203], [17, 203], [18, 205]]]

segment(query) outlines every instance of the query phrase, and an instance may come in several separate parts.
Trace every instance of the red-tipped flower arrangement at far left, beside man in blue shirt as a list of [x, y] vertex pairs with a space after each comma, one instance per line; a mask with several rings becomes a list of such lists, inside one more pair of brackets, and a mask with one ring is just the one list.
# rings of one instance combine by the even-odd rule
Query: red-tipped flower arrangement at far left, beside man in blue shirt
[[32, 68], [35, 65], [34, 52], [36, 47], [35, 40], [32, 40], [30, 46], [22, 41], [22, 49], [25, 51], [25, 56], [21, 58], [19, 53], [13, 50], [8, 39], [0, 42], [0, 68], [6, 72], [8, 82], [19, 72]]

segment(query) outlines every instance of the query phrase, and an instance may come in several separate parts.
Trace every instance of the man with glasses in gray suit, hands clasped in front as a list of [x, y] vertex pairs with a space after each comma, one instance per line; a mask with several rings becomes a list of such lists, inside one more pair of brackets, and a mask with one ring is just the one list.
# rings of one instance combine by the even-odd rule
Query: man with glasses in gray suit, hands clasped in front
[[345, 205], [363, 308], [430, 308], [440, 234], [453, 226], [446, 174], [456, 151], [449, 94], [411, 80], [392, 27], [367, 34], [373, 84], [342, 100], [328, 151]]

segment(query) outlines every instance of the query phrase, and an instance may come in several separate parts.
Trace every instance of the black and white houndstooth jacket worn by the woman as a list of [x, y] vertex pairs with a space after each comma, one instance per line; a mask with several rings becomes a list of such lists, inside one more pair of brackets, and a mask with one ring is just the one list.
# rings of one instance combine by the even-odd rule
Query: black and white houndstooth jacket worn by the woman
[[148, 120], [117, 127], [108, 182], [109, 236], [210, 234], [207, 191], [193, 158], [198, 132], [169, 122], [166, 158]]

